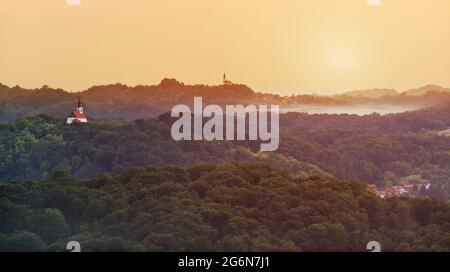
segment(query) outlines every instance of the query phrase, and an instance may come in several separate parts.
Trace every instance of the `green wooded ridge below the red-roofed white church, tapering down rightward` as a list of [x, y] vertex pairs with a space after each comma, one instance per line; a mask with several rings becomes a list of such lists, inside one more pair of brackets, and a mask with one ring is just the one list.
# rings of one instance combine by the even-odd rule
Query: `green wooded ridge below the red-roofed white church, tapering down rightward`
[[169, 124], [155, 119], [66, 125], [37, 116], [0, 123], [0, 180], [45, 179], [66, 170], [78, 177], [129, 167], [198, 162], [264, 162], [301, 176], [330, 176], [314, 165], [276, 153], [254, 153], [245, 143], [172, 140]]

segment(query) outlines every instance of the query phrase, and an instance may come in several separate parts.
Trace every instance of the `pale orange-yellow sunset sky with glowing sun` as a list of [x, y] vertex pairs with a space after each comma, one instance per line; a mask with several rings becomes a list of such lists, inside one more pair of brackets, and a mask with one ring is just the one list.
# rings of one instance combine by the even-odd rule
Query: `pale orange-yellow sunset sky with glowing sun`
[[0, 0], [0, 83], [450, 87], [450, 0], [77, 1]]

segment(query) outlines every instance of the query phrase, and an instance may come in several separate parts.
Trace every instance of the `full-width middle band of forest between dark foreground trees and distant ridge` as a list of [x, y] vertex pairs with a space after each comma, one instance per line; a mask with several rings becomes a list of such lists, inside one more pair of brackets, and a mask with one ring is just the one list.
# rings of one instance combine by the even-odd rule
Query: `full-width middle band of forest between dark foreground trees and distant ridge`
[[197, 162], [261, 162], [299, 177], [334, 176], [376, 183], [431, 183], [433, 196], [450, 199], [450, 108], [388, 116], [281, 116], [277, 152], [256, 142], [172, 140], [167, 116], [65, 125], [37, 116], [0, 123], [0, 180], [45, 179], [66, 170], [76, 177], [121, 173], [137, 166]]

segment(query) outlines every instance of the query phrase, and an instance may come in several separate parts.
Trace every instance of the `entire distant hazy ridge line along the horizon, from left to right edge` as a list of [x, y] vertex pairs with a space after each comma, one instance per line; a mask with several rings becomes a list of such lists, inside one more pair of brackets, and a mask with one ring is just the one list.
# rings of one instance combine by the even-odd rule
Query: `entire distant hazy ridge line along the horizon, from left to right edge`
[[[169, 111], [174, 105], [191, 105], [194, 96], [201, 96], [208, 104], [276, 104], [295, 106], [314, 105], [403, 105], [427, 107], [450, 101], [450, 93], [444, 89], [427, 89], [419, 95], [385, 96], [279, 96], [255, 92], [246, 85], [185, 85], [175, 79], [163, 79], [153, 86], [130, 87], [120, 83], [94, 86], [79, 93], [43, 86], [39, 89], [8, 87], [0, 84], [0, 120], [47, 114], [67, 117], [82, 98], [91, 119], [133, 121], [156, 117]], [[433, 91], [434, 90], [434, 91]], [[389, 94], [389, 93], [388, 93]], [[416, 94], [416, 93], [415, 93]]]

